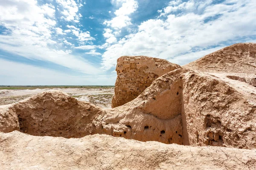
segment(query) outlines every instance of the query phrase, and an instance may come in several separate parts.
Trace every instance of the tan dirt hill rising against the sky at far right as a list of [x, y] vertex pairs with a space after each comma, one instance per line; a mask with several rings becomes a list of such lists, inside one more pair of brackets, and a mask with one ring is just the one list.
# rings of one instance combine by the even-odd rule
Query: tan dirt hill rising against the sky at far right
[[183, 68], [207, 72], [256, 74], [256, 43], [239, 43], [208, 54]]

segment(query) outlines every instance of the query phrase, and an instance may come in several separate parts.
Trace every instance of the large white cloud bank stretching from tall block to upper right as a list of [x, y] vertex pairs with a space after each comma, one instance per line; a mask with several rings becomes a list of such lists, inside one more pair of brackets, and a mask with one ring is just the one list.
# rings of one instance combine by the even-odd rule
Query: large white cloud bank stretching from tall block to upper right
[[108, 46], [102, 54], [102, 68], [112, 68], [123, 55], [147, 55], [185, 64], [191, 61], [189, 54], [202, 57], [226, 41], [232, 44], [242, 37], [256, 36], [256, 1], [227, 0], [221, 5], [209, 2], [172, 1], [169, 6], [182, 9], [180, 12], [166, 11], [166, 17], [147, 20], [135, 33]]

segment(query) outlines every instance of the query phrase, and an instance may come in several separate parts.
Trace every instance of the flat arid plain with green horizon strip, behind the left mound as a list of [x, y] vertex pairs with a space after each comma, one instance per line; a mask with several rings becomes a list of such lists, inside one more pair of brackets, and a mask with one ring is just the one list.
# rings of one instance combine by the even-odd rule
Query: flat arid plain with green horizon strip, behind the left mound
[[111, 108], [114, 86], [0, 86], [0, 105], [19, 102], [43, 91], [62, 91], [79, 101]]

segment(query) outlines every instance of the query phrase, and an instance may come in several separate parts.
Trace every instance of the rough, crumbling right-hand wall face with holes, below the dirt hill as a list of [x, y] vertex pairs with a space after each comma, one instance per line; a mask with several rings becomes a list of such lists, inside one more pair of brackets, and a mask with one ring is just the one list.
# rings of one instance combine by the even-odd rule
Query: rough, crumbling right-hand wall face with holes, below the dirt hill
[[184, 75], [189, 144], [256, 148], [256, 102], [209, 74], [189, 71]]

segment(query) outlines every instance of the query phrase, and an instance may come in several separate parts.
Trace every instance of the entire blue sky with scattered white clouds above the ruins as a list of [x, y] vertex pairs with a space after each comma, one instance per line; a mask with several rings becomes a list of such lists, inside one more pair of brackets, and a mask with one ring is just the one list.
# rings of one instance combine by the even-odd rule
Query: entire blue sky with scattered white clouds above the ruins
[[256, 0], [0, 0], [0, 85], [114, 85], [116, 59], [187, 64], [256, 42]]

